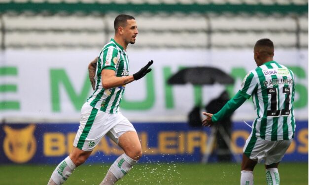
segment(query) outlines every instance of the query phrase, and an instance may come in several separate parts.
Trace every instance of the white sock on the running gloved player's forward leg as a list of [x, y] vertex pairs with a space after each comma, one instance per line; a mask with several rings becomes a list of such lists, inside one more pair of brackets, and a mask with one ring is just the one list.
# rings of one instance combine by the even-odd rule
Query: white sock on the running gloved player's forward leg
[[105, 178], [100, 185], [113, 185], [119, 179], [123, 178], [137, 163], [126, 154], [120, 155], [115, 162], [110, 166]]

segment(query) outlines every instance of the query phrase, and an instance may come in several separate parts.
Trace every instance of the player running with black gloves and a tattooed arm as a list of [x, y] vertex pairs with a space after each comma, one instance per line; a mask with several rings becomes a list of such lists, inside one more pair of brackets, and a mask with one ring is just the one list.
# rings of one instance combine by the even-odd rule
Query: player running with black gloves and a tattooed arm
[[[137, 73], [129, 75], [128, 44], [137, 37], [137, 22], [130, 15], [118, 15], [114, 21], [115, 36], [102, 49], [96, 66], [93, 94], [81, 109], [79, 129], [73, 150], [56, 167], [48, 185], [63, 184], [83, 164], [104, 135], [124, 150], [110, 166], [101, 185], [113, 185], [124, 177], [142, 155], [137, 132], [119, 112], [119, 104], [126, 84], [138, 80], [151, 71], [153, 61]], [[94, 74], [90, 74], [94, 75]], [[92, 79], [91, 79], [92, 80]]]

